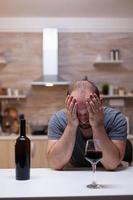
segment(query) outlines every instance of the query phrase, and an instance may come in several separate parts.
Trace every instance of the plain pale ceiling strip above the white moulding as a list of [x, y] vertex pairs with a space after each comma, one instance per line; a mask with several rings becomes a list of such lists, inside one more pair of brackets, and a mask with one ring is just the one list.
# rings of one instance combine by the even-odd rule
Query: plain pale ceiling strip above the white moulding
[[0, 0], [0, 17], [133, 17], [133, 0]]

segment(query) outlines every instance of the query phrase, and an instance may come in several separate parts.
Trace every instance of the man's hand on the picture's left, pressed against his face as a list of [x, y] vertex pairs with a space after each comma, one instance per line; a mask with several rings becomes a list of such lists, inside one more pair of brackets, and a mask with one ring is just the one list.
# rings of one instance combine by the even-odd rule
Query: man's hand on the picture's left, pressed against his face
[[77, 102], [73, 96], [68, 95], [65, 100], [65, 107], [67, 110], [68, 125], [77, 127], [79, 120], [77, 118]]

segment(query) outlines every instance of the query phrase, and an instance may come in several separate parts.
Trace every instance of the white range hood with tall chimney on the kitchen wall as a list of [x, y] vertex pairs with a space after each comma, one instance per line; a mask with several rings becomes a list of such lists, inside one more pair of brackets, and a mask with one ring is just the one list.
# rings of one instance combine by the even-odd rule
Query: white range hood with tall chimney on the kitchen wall
[[58, 75], [58, 30], [46, 28], [43, 30], [43, 68], [42, 76], [31, 83], [32, 85], [69, 85]]

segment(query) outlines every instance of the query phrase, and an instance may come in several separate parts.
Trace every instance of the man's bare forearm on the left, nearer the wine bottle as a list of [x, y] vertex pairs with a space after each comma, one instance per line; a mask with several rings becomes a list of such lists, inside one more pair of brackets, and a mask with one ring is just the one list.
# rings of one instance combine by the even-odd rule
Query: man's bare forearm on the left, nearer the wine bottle
[[67, 125], [62, 137], [52, 146], [48, 152], [50, 167], [53, 169], [62, 169], [71, 158], [77, 127]]

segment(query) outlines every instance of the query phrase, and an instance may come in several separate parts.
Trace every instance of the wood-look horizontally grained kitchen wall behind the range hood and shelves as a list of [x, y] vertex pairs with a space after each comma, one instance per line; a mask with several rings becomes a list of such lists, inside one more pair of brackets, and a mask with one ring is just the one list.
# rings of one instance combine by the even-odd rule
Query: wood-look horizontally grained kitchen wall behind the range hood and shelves
[[[98, 55], [109, 58], [112, 48], [120, 49], [121, 65], [95, 66]], [[133, 90], [133, 33], [59, 33], [59, 74], [67, 80], [85, 75], [100, 88], [102, 83]], [[1, 87], [17, 88], [27, 98], [2, 101], [3, 109], [9, 105], [26, 114], [29, 122], [47, 124], [56, 110], [63, 108], [67, 86], [32, 87], [31, 81], [42, 72], [42, 33], [0, 33], [0, 56], [7, 61], [0, 64]], [[127, 99], [120, 107], [130, 117], [133, 132], [133, 101]]]

